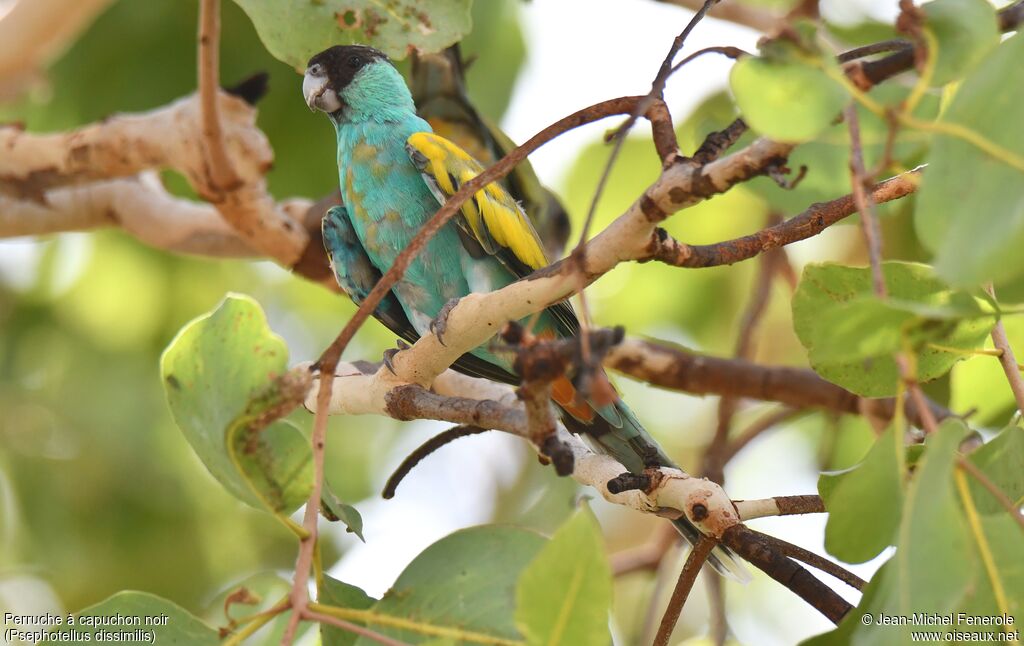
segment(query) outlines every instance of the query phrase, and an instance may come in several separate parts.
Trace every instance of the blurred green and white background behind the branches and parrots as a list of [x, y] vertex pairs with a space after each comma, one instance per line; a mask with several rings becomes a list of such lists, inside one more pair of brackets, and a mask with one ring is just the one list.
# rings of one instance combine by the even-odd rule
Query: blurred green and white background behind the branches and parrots
[[[0, 16], [14, 1], [0, 0]], [[275, 150], [271, 191], [279, 199], [326, 195], [337, 181], [330, 125], [303, 104], [301, 77], [266, 53], [237, 5], [222, 5], [225, 84], [270, 73], [259, 125]], [[895, 2], [836, 0], [823, 2], [822, 10], [852, 33], [865, 23], [874, 29], [871, 20], [891, 20], [897, 8]], [[111, 3], [45, 79], [0, 103], [0, 122], [66, 130], [193, 92], [197, 12], [195, 0]], [[587, 104], [646, 92], [690, 15], [654, 0], [478, 0], [474, 30], [463, 44], [465, 55], [476, 56], [468, 72], [470, 95], [521, 141]], [[758, 36], [708, 19], [687, 50], [734, 45], [753, 51]], [[671, 81], [667, 99], [684, 152], [734, 118], [724, 94], [728, 69], [727, 60], [705, 57]], [[608, 153], [601, 137], [614, 125], [568, 133], [532, 158], [577, 227]], [[841, 139], [815, 145], [825, 152], [830, 146], [845, 160]], [[620, 214], [657, 172], [641, 123], [624, 146], [597, 223]], [[164, 179], [187, 195], [180, 178], [167, 173]], [[845, 193], [846, 182], [845, 171], [813, 166], [797, 191], [756, 180], [679, 214], [668, 228], [689, 243], [718, 242], [760, 228], [773, 210], [793, 215], [815, 200]], [[905, 202], [885, 210], [887, 256], [921, 259]], [[858, 230], [850, 226], [788, 251], [798, 272], [814, 260], [863, 261]], [[728, 355], [755, 269], [755, 263], [702, 270], [630, 264], [591, 288], [588, 301], [598, 325], [624, 325], [632, 335]], [[207, 473], [172, 423], [159, 381], [160, 353], [174, 334], [227, 291], [262, 304], [273, 330], [288, 341], [293, 362], [315, 358], [354, 311], [347, 299], [271, 263], [169, 256], [117, 231], [0, 241], [0, 608], [67, 612], [135, 589], [216, 616], [213, 600], [239, 582], [268, 571], [290, 576], [292, 536]], [[788, 302], [790, 287], [776, 281], [757, 338], [758, 361], [805, 364]], [[1010, 335], [1012, 343], [1024, 343], [1019, 324]], [[392, 335], [371, 321], [346, 358], [377, 360], [392, 345]], [[669, 453], [695, 468], [715, 429], [717, 400], [625, 379], [617, 383]], [[1005, 419], [1010, 407], [994, 360], [959, 364], [951, 379], [933, 385], [932, 394], [951, 398], [954, 406], [979, 406], [974, 421], [982, 425]], [[741, 408], [737, 427], [766, 410]], [[308, 426], [310, 416], [296, 414], [295, 420]], [[371, 417], [331, 422], [328, 477], [361, 512], [367, 540], [360, 543], [334, 525], [327, 529], [325, 562], [337, 577], [377, 596], [416, 554], [454, 529], [504, 522], [550, 532], [586, 494], [539, 466], [519, 442], [490, 433], [444, 447], [413, 472], [394, 500], [381, 500], [391, 470], [441, 428]], [[726, 488], [735, 499], [813, 492], [819, 471], [854, 464], [871, 438], [858, 419], [807, 414], [748, 446], [727, 469]], [[594, 507], [610, 552], [653, 535], [653, 519], [601, 501]], [[823, 551], [823, 518], [753, 525]], [[681, 561], [670, 560], [674, 578]], [[866, 576], [876, 566], [854, 569]], [[671, 585], [658, 587], [654, 579], [645, 572], [617, 580], [613, 619], [623, 643], [642, 634], [652, 595], [660, 599], [658, 608], [664, 604]], [[815, 611], [761, 576], [745, 587], [730, 583], [727, 593], [730, 625], [742, 642], [793, 643], [827, 628]], [[680, 638], [707, 632], [705, 596], [692, 601]]]

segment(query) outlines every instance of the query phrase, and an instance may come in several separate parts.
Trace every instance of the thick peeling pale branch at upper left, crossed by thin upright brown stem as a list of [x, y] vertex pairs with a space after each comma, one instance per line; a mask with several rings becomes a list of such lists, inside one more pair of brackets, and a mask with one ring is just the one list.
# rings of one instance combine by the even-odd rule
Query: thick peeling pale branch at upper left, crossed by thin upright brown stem
[[291, 267], [306, 251], [309, 234], [266, 190], [264, 174], [273, 154], [256, 127], [256, 111], [224, 92], [217, 95], [217, 103], [224, 146], [240, 180], [229, 190], [219, 188], [211, 175], [200, 101], [191, 95], [67, 133], [0, 128], [0, 193], [43, 202], [56, 187], [173, 169], [217, 208], [248, 247]]

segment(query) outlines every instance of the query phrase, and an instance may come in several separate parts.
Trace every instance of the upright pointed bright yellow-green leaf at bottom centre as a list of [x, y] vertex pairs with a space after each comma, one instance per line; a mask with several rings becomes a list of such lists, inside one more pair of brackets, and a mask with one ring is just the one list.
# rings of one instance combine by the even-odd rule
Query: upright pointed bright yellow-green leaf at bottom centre
[[607, 644], [610, 605], [611, 569], [601, 528], [584, 508], [523, 571], [516, 626], [528, 644]]

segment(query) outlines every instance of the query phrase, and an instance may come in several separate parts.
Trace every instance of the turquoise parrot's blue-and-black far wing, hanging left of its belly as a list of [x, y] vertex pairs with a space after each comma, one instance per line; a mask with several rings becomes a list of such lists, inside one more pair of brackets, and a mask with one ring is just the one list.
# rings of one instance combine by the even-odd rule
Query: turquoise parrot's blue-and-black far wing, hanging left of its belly
[[[322, 229], [324, 248], [327, 250], [327, 257], [331, 261], [331, 268], [338, 285], [353, 303], [360, 305], [381, 279], [380, 270], [370, 261], [370, 256], [359, 243], [345, 207], [335, 206], [328, 209]], [[420, 339], [394, 292], [388, 292], [377, 305], [374, 317], [409, 343], [416, 343]], [[469, 353], [460, 356], [454, 368], [471, 377], [481, 377], [506, 384], [519, 383], [519, 379], [508, 371]]]

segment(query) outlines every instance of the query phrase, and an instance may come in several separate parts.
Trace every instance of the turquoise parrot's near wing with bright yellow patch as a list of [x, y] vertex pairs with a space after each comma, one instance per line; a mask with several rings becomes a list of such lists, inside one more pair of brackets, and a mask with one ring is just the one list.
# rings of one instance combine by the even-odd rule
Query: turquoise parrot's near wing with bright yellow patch
[[[413, 134], [406, 148], [439, 205], [483, 172], [479, 162], [465, 150], [432, 132]], [[534, 225], [519, 203], [497, 183], [487, 184], [467, 200], [456, 216], [456, 224], [471, 254], [490, 254], [517, 277], [548, 264]], [[580, 324], [567, 302], [555, 303], [548, 311], [558, 319], [563, 334], [579, 331]]]

